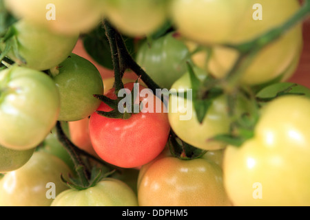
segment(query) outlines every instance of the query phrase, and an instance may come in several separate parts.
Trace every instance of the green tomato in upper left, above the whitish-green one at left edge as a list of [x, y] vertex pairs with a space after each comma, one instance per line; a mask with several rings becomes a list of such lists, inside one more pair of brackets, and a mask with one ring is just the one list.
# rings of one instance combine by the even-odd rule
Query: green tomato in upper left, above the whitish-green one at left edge
[[[46, 70], [59, 63], [72, 52], [79, 35], [67, 36], [51, 32], [45, 27], [20, 20], [12, 25], [12, 36], [5, 43], [0, 43], [0, 50], [11, 46], [8, 57], [18, 65], [37, 70]], [[17, 46], [17, 53], [14, 50]]]

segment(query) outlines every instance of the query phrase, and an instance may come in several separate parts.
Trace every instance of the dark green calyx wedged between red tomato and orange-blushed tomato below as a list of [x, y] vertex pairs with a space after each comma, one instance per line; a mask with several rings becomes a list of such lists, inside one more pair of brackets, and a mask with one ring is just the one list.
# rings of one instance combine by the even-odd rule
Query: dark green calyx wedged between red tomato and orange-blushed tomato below
[[180, 138], [176, 136], [173, 131], [170, 132], [168, 146], [170, 153], [174, 157], [177, 157], [179, 159], [196, 159], [202, 157], [203, 155], [205, 155], [205, 153], [207, 153], [207, 151], [203, 149], [196, 148], [195, 146], [192, 146], [191, 144], [187, 144], [183, 140], [180, 140]]

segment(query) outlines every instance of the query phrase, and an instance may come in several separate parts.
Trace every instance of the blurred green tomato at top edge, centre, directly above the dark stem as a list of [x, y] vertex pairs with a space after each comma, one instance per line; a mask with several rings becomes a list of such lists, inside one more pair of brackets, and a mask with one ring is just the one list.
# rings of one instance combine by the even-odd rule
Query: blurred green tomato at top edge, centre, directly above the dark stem
[[127, 36], [145, 36], [160, 28], [167, 19], [167, 0], [107, 0], [107, 19]]

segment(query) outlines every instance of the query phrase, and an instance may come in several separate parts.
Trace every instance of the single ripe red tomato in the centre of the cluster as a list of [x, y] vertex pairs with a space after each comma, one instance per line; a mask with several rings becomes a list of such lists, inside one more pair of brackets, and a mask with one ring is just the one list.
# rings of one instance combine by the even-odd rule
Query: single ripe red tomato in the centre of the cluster
[[[134, 83], [124, 85], [127, 89], [132, 89]], [[139, 87], [142, 91], [143, 87]], [[107, 97], [115, 99], [114, 89], [105, 94]], [[152, 94], [152, 96], [154, 96]], [[123, 168], [134, 168], [146, 164], [154, 159], [167, 142], [169, 135], [169, 122], [167, 112], [161, 109], [156, 111], [155, 102], [159, 103], [155, 96], [148, 99], [152, 112], [133, 113], [129, 119], [107, 118], [98, 113], [90, 117], [90, 138], [96, 153], [103, 160]], [[143, 98], [141, 98], [143, 100]], [[153, 102], [154, 101], [154, 102]], [[163, 104], [161, 104], [163, 108]], [[112, 109], [105, 103], [97, 111], [111, 111]]]

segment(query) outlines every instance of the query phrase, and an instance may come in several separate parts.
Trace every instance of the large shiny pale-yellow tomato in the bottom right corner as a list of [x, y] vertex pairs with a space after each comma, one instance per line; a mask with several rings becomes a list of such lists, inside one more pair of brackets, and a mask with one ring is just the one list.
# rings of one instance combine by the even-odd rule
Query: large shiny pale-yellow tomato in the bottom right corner
[[262, 109], [254, 137], [224, 153], [235, 206], [309, 206], [310, 99], [285, 96]]

